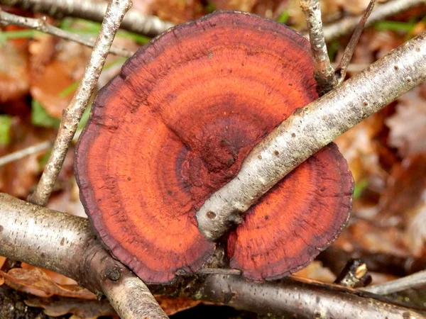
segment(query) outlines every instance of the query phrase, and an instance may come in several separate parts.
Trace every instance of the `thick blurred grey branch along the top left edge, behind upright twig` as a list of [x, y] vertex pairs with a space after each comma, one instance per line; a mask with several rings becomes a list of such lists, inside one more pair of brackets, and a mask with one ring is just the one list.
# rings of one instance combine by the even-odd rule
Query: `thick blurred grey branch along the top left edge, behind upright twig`
[[[102, 22], [107, 4], [94, 0], [0, 0], [6, 6], [19, 6], [23, 9], [46, 13], [55, 18], [70, 16]], [[144, 16], [136, 10], [129, 10], [121, 23], [121, 28], [148, 36], [155, 36], [173, 23], [161, 21], [156, 16]]]

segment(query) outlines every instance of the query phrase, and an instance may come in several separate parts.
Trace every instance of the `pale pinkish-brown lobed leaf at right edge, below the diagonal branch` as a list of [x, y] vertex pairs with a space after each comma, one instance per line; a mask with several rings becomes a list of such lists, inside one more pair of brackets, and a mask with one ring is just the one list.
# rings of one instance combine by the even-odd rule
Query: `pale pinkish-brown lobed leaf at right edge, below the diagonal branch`
[[426, 154], [426, 84], [418, 86], [398, 99], [396, 112], [388, 118], [388, 144], [402, 157]]

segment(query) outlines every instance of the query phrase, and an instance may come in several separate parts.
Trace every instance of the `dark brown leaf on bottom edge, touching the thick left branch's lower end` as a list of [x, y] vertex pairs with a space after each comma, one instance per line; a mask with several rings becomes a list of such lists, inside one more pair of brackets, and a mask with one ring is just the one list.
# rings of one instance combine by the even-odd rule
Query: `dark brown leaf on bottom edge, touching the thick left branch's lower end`
[[46, 315], [57, 317], [72, 313], [70, 319], [97, 319], [102, 316], [112, 316], [119, 318], [109, 302], [66, 299], [53, 300], [52, 298], [31, 298], [25, 301], [27, 306], [40, 307], [44, 309]]

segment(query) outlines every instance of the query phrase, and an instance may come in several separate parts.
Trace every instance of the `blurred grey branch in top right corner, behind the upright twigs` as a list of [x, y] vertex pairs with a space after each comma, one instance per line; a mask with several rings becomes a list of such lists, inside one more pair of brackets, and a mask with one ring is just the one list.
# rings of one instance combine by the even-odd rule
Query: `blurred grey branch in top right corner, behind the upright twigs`
[[[381, 21], [390, 16], [395, 16], [395, 14], [407, 11], [408, 9], [414, 8], [416, 6], [425, 5], [426, 0], [391, 0], [386, 2], [386, 4], [378, 5], [376, 10], [371, 13], [370, 18], [366, 22], [366, 26], [371, 26], [377, 21]], [[337, 23], [333, 23], [329, 26], [324, 26], [324, 38], [325, 41], [331, 42], [337, 38], [342, 37], [343, 35], [351, 33], [359, 23], [361, 16], [353, 16], [348, 18], [343, 18]]]

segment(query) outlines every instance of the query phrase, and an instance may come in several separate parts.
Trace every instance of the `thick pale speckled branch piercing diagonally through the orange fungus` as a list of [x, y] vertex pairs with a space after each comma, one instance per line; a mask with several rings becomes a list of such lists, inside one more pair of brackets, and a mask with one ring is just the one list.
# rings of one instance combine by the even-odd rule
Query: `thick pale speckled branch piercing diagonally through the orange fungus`
[[197, 211], [200, 232], [209, 240], [217, 240], [231, 227], [232, 220], [241, 219], [241, 213], [298, 164], [425, 81], [425, 50], [426, 32], [317, 101], [297, 109], [253, 148], [236, 177], [204, 202]]

